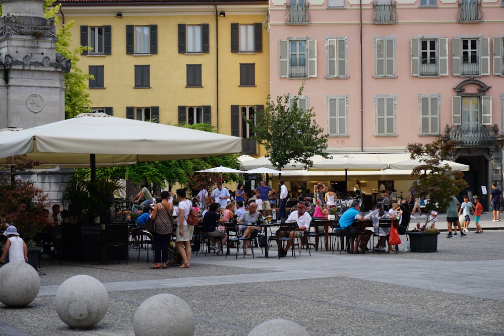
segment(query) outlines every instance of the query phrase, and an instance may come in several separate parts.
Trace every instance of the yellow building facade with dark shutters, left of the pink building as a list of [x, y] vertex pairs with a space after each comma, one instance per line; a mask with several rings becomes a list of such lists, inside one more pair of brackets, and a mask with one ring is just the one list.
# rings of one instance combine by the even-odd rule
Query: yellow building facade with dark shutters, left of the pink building
[[[247, 138], [241, 115], [264, 107], [269, 86], [267, 1], [61, 1], [92, 109], [166, 124], [210, 123]], [[258, 155], [250, 141], [243, 153]]]

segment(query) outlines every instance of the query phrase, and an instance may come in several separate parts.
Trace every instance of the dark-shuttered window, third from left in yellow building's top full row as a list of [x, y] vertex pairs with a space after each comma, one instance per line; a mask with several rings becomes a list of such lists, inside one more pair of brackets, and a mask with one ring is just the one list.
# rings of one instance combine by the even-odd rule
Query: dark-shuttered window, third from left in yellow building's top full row
[[209, 24], [178, 25], [178, 52], [205, 53], [210, 51]]

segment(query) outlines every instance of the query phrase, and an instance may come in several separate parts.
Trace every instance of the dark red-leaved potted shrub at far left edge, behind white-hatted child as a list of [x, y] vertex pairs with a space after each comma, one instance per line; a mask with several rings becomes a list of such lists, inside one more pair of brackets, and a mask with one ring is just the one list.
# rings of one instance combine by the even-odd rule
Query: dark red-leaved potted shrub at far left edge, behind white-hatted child
[[25, 240], [28, 260], [35, 269], [41, 248], [35, 247], [34, 239], [48, 225], [44, 213], [49, 206], [48, 195], [34, 181], [24, 181], [18, 175], [41, 164], [28, 160], [26, 155], [16, 155], [6, 158], [0, 165], [0, 216], [5, 223], [14, 225]]

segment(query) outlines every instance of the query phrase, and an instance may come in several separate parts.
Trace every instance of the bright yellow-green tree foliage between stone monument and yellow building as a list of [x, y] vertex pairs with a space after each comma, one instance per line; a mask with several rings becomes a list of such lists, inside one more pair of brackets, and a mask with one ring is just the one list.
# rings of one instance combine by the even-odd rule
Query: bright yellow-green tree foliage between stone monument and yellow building
[[[59, 11], [61, 4], [52, 7], [53, 0], [45, 0], [44, 17], [46, 19], [54, 17], [54, 22], [58, 22], [56, 13]], [[56, 53], [61, 53], [62, 57], [72, 60], [72, 70], [65, 74], [65, 118], [69, 119], [79, 113], [89, 112], [92, 102], [89, 99], [89, 92], [87, 91], [87, 81], [94, 79], [93, 76], [84, 73], [77, 65], [79, 62], [79, 55], [87, 50], [88, 47], [78, 46], [74, 50], [70, 49], [70, 42], [72, 41], [72, 33], [70, 30], [74, 26], [75, 21], [72, 20], [65, 23], [56, 32], [58, 41], [56, 42]]]

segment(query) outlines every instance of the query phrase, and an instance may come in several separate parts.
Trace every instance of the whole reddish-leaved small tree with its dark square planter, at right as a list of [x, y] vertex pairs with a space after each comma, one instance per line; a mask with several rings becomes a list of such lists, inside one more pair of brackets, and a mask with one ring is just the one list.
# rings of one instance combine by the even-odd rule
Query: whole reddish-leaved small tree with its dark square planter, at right
[[452, 194], [458, 194], [460, 190], [467, 187], [467, 182], [463, 179], [463, 172], [453, 171], [448, 164], [442, 165], [442, 161], [451, 157], [454, 146], [453, 141], [443, 141], [437, 138], [436, 141], [422, 145], [410, 143], [408, 151], [411, 159], [418, 159], [420, 165], [415, 167], [411, 176], [416, 181], [411, 185], [410, 190], [415, 190], [415, 197], [429, 198], [425, 205], [425, 224], [417, 224], [412, 231], [406, 234], [410, 237], [412, 252], [435, 252], [437, 251], [437, 235], [439, 230], [434, 227], [427, 227], [429, 222], [428, 214], [431, 211], [444, 212], [448, 207]]

